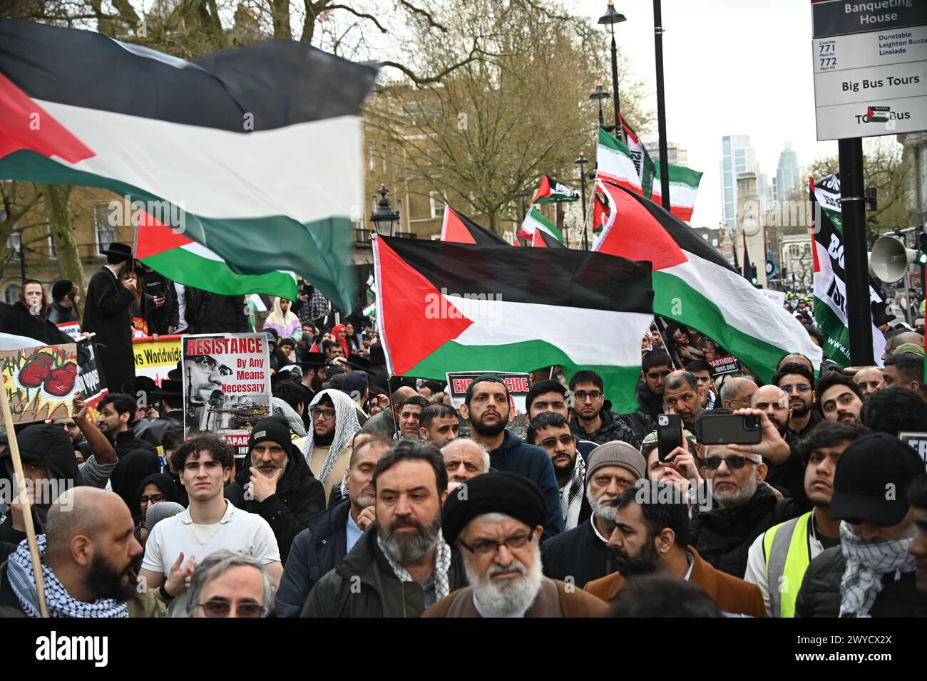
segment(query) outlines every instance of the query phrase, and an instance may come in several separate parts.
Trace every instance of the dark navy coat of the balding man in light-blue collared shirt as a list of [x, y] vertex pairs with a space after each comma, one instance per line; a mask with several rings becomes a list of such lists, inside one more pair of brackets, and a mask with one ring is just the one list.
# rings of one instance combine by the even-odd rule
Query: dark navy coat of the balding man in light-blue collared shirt
[[277, 589], [277, 617], [298, 617], [312, 586], [348, 554], [348, 515], [345, 500], [312, 516], [293, 539], [286, 569]]

